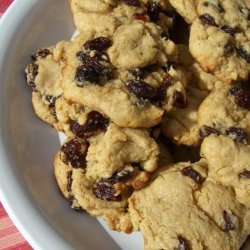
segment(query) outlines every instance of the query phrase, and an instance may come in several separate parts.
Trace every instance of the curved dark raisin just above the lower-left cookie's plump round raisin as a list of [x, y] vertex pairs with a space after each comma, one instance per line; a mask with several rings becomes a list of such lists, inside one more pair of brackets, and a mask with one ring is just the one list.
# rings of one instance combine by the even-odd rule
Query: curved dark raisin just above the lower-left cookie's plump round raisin
[[109, 120], [103, 117], [97, 111], [91, 111], [88, 113], [86, 122], [80, 125], [77, 121], [71, 121], [71, 130], [80, 138], [85, 138], [91, 135], [92, 132], [101, 129], [105, 131], [109, 125]]

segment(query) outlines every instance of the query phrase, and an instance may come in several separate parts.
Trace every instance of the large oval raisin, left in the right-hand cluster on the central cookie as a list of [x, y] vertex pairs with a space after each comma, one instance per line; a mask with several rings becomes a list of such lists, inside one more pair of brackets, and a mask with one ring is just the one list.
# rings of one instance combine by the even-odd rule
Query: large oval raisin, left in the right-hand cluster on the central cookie
[[157, 89], [141, 80], [131, 80], [126, 83], [128, 90], [139, 99], [153, 99]]

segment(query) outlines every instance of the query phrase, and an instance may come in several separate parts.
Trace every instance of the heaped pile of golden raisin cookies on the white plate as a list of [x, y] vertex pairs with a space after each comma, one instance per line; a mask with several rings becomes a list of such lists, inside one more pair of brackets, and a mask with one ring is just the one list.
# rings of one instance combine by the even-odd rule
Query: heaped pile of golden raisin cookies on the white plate
[[71, 0], [78, 35], [26, 68], [68, 139], [70, 206], [145, 249], [239, 249], [250, 233], [250, 1]]

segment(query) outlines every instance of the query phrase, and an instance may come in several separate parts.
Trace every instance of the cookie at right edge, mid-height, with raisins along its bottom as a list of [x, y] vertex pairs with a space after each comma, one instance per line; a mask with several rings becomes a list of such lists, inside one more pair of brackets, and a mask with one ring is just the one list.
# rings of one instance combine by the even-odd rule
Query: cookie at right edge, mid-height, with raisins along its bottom
[[241, 85], [220, 86], [204, 100], [198, 111], [201, 138], [224, 134], [243, 144], [250, 136], [250, 92]]

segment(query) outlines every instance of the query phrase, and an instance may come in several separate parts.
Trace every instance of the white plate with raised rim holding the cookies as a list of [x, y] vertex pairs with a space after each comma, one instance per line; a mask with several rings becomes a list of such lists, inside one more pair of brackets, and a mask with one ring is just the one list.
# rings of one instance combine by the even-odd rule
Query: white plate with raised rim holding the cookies
[[140, 250], [138, 235], [107, 233], [69, 208], [53, 176], [58, 134], [31, 106], [29, 55], [70, 39], [74, 29], [67, 0], [15, 0], [0, 21], [0, 199], [35, 249]]

